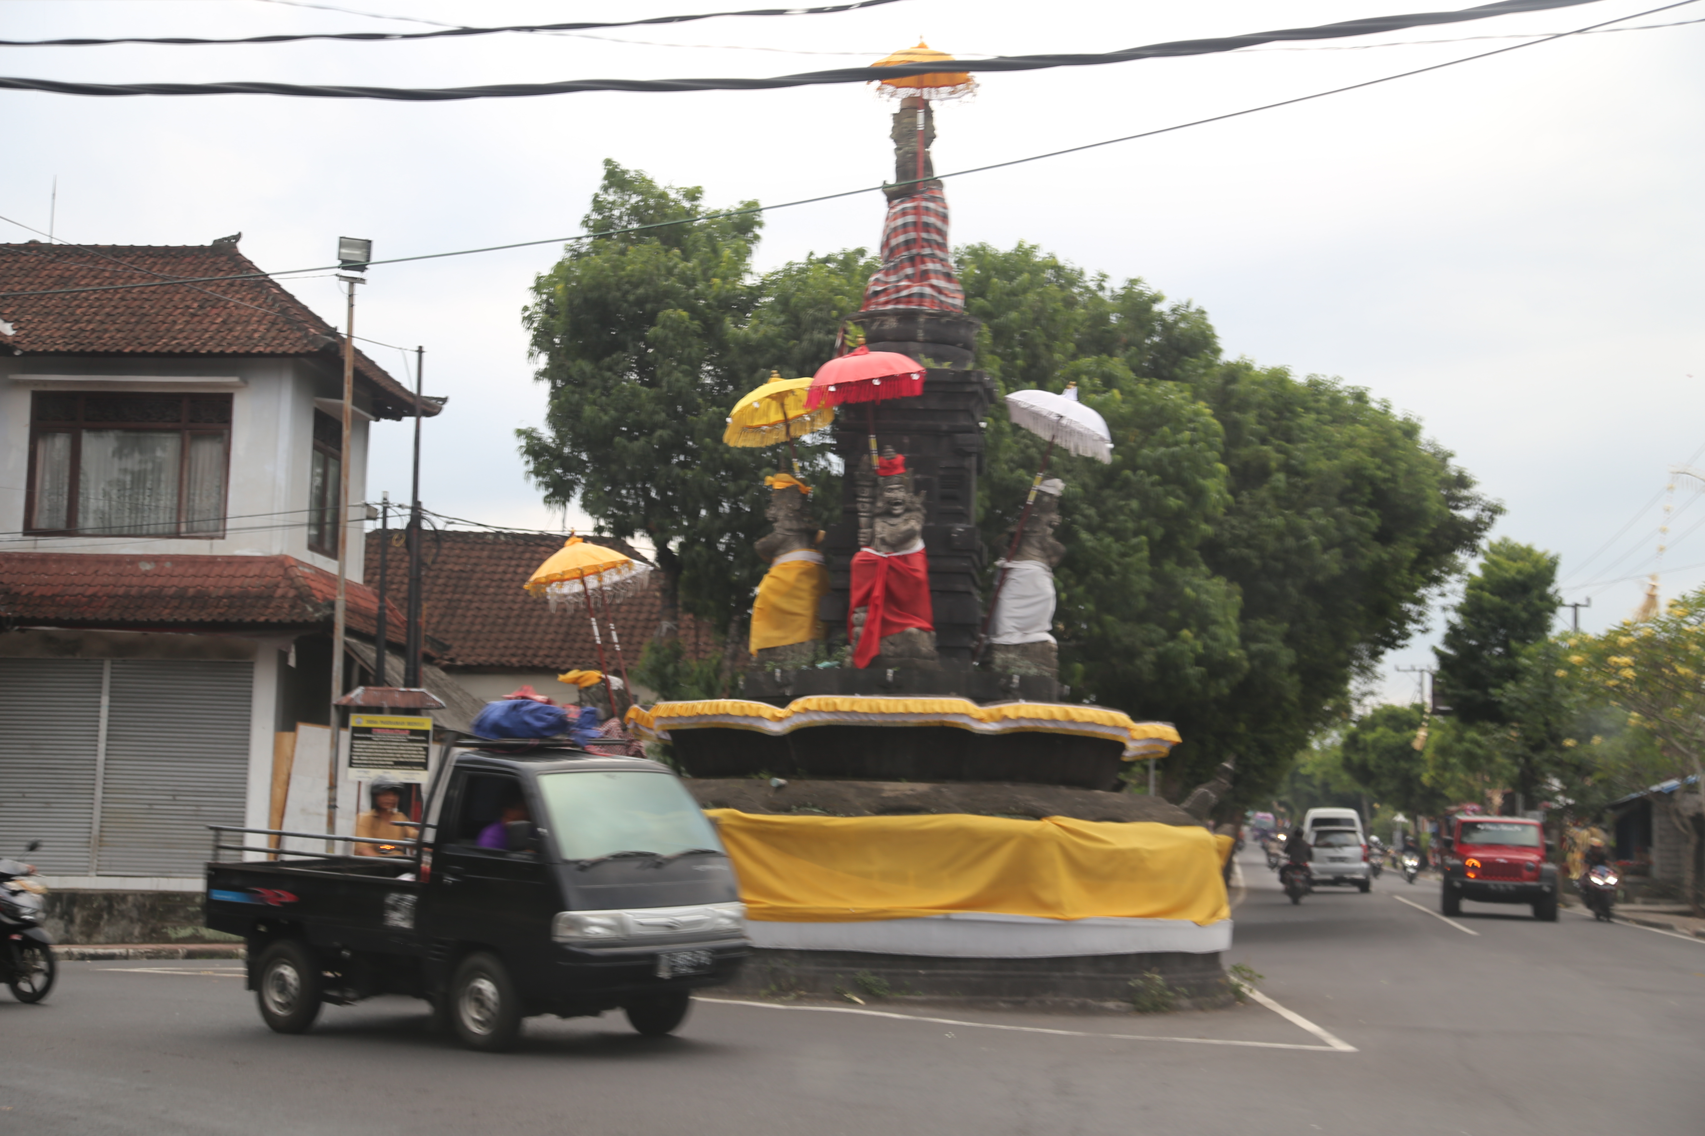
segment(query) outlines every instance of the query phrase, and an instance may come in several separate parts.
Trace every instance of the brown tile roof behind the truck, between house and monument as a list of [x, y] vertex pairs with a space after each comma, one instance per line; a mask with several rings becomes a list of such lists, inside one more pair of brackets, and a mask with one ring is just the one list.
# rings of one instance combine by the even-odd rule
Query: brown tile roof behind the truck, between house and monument
[[[379, 579], [379, 533], [367, 535], [365, 579], [370, 581]], [[587, 540], [639, 555], [621, 540], [607, 536]], [[568, 608], [552, 611], [544, 598], [522, 591], [534, 569], [561, 547], [563, 538], [547, 533], [448, 531], [428, 536], [421, 610], [438, 664], [558, 671], [597, 668], [598, 651], [585, 613]], [[402, 550], [392, 547], [390, 579], [397, 581], [394, 586], [399, 598], [406, 572], [402, 565]], [[656, 574], [651, 579], [655, 581]], [[656, 584], [617, 605], [614, 615], [616, 630], [622, 637], [622, 652], [633, 668], [639, 663], [639, 651], [646, 640], [656, 634], [662, 618]], [[694, 659], [716, 651], [709, 628], [701, 627], [691, 615], [682, 617], [680, 637]], [[604, 649], [610, 651], [607, 635]], [[610, 669], [616, 669], [614, 654], [609, 654], [607, 661]]]

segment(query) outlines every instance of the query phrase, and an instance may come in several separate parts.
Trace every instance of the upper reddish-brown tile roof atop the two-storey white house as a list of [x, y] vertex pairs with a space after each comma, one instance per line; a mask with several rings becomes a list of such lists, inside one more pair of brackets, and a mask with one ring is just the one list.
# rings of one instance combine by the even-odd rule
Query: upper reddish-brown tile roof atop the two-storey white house
[[[338, 364], [343, 337], [268, 278], [9, 296], [160, 278], [259, 273], [235, 242], [211, 245], [0, 244], [0, 346], [22, 354], [307, 354]], [[10, 325], [10, 332], [5, 330]], [[414, 393], [355, 353], [379, 417], [414, 414]], [[423, 400], [425, 414], [442, 407]]]

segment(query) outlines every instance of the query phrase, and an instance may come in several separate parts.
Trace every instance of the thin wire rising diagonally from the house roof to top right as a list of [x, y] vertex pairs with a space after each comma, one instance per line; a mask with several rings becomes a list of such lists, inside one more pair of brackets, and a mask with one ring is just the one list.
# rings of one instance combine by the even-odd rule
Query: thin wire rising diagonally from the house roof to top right
[[[1521, 2], [1521, 0], [1512, 0], [1512, 2]], [[1591, 0], [1587, 0], [1587, 2], [1591, 2]], [[1625, 20], [1625, 19], [1639, 19], [1642, 15], [1650, 15], [1652, 12], [1666, 12], [1669, 9], [1679, 9], [1679, 7], [1685, 7], [1688, 3], [1696, 3], [1696, 0], [1679, 0], [1678, 3], [1666, 3], [1666, 5], [1659, 7], [1659, 9], [1649, 9], [1645, 12], [1635, 12], [1633, 15], [1620, 15], [1615, 20], [1604, 20], [1604, 24], [1615, 24], [1615, 22], [1620, 22], [1620, 20]], [[941, 181], [941, 179], [948, 179], [948, 177], [965, 177], [968, 174], [987, 174], [989, 170], [1001, 170], [1001, 169], [1008, 169], [1008, 167], [1013, 167], [1013, 165], [1025, 165], [1028, 162], [1042, 162], [1042, 160], [1047, 160], [1047, 158], [1059, 158], [1059, 157], [1064, 157], [1067, 153], [1081, 153], [1084, 150], [1098, 150], [1101, 146], [1113, 146], [1113, 145], [1125, 143], [1125, 141], [1137, 141], [1141, 138], [1154, 138], [1158, 135], [1170, 135], [1170, 133], [1175, 133], [1175, 131], [1180, 131], [1180, 129], [1190, 129], [1192, 126], [1207, 126], [1211, 123], [1224, 123], [1228, 119], [1245, 118], [1248, 114], [1258, 114], [1262, 111], [1275, 111], [1279, 107], [1289, 107], [1289, 106], [1296, 106], [1296, 104], [1301, 104], [1301, 102], [1313, 102], [1315, 99], [1325, 99], [1328, 95], [1340, 95], [1340, 94], [1345, 94], [1349, 90], [1362, 90], [1364, 87], [1378, 87], [1379, 83], [1390, 83], [1390, 82], [1395, 82], [1398, 78], [1410, 78], [1413, 75], [1425, 75], [1429, 72], [1439, 72], [1439, 70], [1444, 70], [1448, 66], [1456, 66], [1458, 63], [1473, 63], [1475, 60], [1487, 60], [1487, 58], [1490, 58], [1494, 55], [1506, 55], [1509, 51], [1521, 51], [1523, 48], [1533, 48], [1533, 46], [1541, 44], [1541, 43], [1552, 43], [1553, 39], [1563, 39], [1567, 36], [1579, 36], [1579, 34], [1589, 32], [1589, 31], [1592, 31], [1596, 27], [1603, 27], [1604, 24], [1591, 24], [1587, 27], [1577, 27], [1572, 32], [1557, 32], [1555, 36], [1546, 36], [1545, 39], [1531, 39], [1528, 43], [1511, 44], [1509, 48], [1495, 48], [1492, 51], [1482, 51], [1480, 55], [1463, 56], [1461, 60], [1448, 60], [1444, 63], [1434, 63], [1430, 66], [1419, 66], [1419, 68], [1413, 68], [1410, 72], [1398, 72], [1395, 75], [1384, 75], [1381, 78], [1369, 78], [1369, 80], [1364, 80], [1361, 83], [1349, 83], [1347, 87], [1333, 87], [1330, 90], [1318, 90], [1318, 92], [1309, 94], [1309, 95], [1298, 95], [1294, 99], [1280, 99], [1279, 102], [1265, 102], [1265, 104], [1257, 106], [1257, 107], [1245, 107], [1243, 111], [1228, 111], [1226, 114], [1212, 114], [1209, 118], [1192, 119], [1188, 123], [1176, 123], [1173, 126], [1161, 126], [1161, 128], [1156, 128], [1156, 129], [1146, 129], [1146, 131], [1141, 131], [1137, 135], [1124, 135], [1120, 138], [1107, 138], [1103, 141], [1089, 141], [1089, 143], [1084, 143], [1081, 146], [1066, 146], [1064, 150], [1049, 150], [1047, 153], [1033, 153], [1033, 155], [1025, 157], [1025, 158], [1011, 158], [1008, 162], [992, 162], [989, 165], [974, 165], [974, 167], [963, 169], [963, 170], [953, 170], [953, 172], [948, 172], [948, 174], [936, 174], [933, 181]], [[910, 184], [912, 181], [917, 181], [917, 179], [907, 179], [907, 181], [895, 182], [895, 184], [905, 186], [905, 184]], [[668, 221], [650, 221], [646, 225], [629, 225], [626, 228], [609, 228], [609, 230], [598, 230], [598, 232], [593, 232], [593, 233], [575, 233], [571, 237], [547, 237], [544, 240], [515, 240], [515, 242], [503, 244], [503, 245], [484, 245], [481, 249], [457, 249], [454, 252], [423, 252], [423, 254], [411, 255], [411, 257], [389, 257], [389, 259], [384, 259], [384, 261], [368, 261], [368, 264], [409, 264], [409, 262], [414, 262], [414, 261], [440, 261], [440, 259], [445, 259], [445, 257], [464, 257], [464, 255], [476, 255], [476, 254], [481, 254], [481, 252], [506, 252], [510, 249], [532, 249], [532, 247], [537, 247], [537, 245], [558, 245], [558, 244], [569, 244], [569, 242], [578, 242], [578, 240], [595, 240], [598, 237], [626, 237], [629, 233], [641, 233], [641, 232], [650, 232], [650, 230], [655, 230], [655, 228], [672, 228], [675, 225], [696, 225], [696, 223], [701, 223], [701, 221], [720, 221], [720, 220], [728, 220], [728, 218], [735, 218], [735, 216], [752, 216], [752, 215], [759, 215], [759, 213], [774, 213], [776, 209], [791, 209], [791, 208], [796, 208], [796, 206], [801, 206], [801, 204], [817, 204], [817, 203], [822, 203], [822, 201], [835, 201], [839, 198], [854, 198], [854, 196], [863, 194], [863, 192], [876, 192], [880, 189], [892, 189], [892, 187], [893, 187], [893, 184], [864, 186], [861, 189], [842, 189], [839, 192], [817, 194], [815, 198], [800, 198], [796, 201], [783, 201], [779, 204], [754, 204], [754, 206], [745, 206], [745, 208], [740, 208], [740, 209], [723, 209], [720, 213], [701, 213], [697, 216], [682, 216], [682, 218], [675, 218], [675, 220], [668, 220]], [[312, 267], [285, 269], [285, 271], [280, 271], [280, 273], [247, 273], [247, 274], [240, 274], [240, 276], [198, 276], [198, 278], [186, 278], [182, 281], [165, 281], [165, 283], [203, 284], [203, 283], [225, 281], [225, 279], [257, 279], [257, 278], [263, 278], [263, 276], [293, 276], [293, 274], [298, 274], [298, 273], [326, 273], [326, 271], [332, 271], [332, 269], [339, 269], [339, 267], [341, 266], [338, 266], [338, 264], [317, 264], [317, 266], [312, 266]], [[150, 283], [150, 284], [102, 284], [102, 286], [89, 286], [89, 288], [49, 288], [49, 290], [39, 290], [39, 291], [0, 291], [0, 300], [10, 300], [10, 298], [17, 298], [17, 296], [63, 296], [63, 295], [84, 293], [84, 291], [114, 291], [114, 290], [124, 290], [124, 288], [159, 288], [159, 286], [162, 286], [162, 284], [155, 284], [155, 283]]]

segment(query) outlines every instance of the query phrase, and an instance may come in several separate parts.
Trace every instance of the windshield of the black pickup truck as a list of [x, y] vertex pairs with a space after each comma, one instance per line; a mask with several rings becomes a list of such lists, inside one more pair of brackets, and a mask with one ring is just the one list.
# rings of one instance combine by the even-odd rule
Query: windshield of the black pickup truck
[[539, 792], [564, 860], [721, 848], [699, 804], [668, 773], [546, 773]]

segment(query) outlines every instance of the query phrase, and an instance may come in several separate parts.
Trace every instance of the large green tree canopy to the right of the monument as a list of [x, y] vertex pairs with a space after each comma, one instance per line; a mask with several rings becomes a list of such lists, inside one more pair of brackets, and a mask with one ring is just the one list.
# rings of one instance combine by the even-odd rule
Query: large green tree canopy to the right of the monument
[[[1222, 359], [1199, 308], [1142, 281], [1115, 288], [1033, 245], [968, 245], [958, 264], [1003, 392], [1076, 382], [1113, 431], [1112, 465], [1054, 456], [1062, 676], [1178, 726], [1171, 792], [1236, 756], [1236, 802], [1265, 797], [1347, 715], [1350, 681], [1422, 623], [1497, 506], [1417, 421]], [[994, 416], [991, 543], [1042, 450]]]

